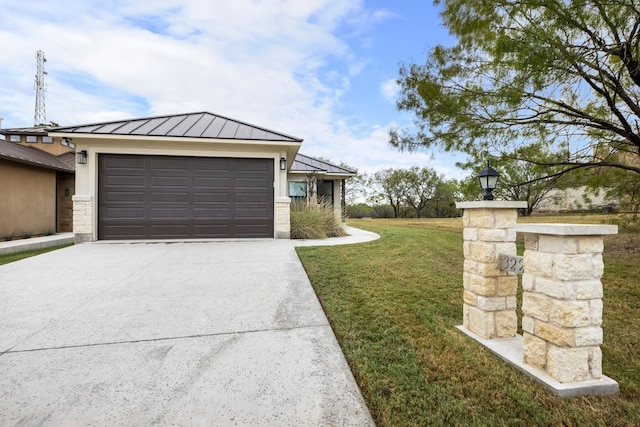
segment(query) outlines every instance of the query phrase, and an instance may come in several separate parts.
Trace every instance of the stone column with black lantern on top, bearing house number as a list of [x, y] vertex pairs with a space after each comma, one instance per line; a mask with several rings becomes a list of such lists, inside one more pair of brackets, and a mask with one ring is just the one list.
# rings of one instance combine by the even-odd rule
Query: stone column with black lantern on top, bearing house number
[[527, 202], [457, 203], [464, 209], [463, 327], [481, 338], [516, 335], [515, 273], [499, 269], [499, 254], [516, 255], [518, 209]]

